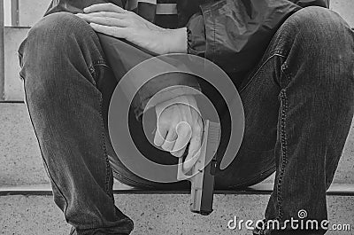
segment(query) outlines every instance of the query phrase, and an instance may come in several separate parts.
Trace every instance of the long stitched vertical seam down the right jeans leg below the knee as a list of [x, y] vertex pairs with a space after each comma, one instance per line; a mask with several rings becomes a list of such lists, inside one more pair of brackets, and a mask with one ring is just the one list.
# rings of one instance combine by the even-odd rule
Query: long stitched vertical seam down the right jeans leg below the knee
[[277, 203], [278, 203], [278, 216], [279, 220], [283, 217], [282, 211], [282, 198], [281, 189], [282, 182], [285, 173], [285, 168], [288, 164], [288, 142], [286, 134], [286, 117], [288, 113], [288, 98], [286, 96], [286, 90], [281, 90], [281, 170], [277, 180]]

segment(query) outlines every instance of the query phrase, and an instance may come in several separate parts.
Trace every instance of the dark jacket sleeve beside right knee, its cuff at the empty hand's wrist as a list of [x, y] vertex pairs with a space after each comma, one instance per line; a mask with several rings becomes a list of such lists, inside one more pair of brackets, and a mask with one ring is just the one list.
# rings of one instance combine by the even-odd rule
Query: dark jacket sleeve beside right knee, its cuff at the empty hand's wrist
[[212, 60], [227, 73], [249, 71], [289, 15], [328, 1], [219, 0], [202, 4], [187, 25], [189, 53]]

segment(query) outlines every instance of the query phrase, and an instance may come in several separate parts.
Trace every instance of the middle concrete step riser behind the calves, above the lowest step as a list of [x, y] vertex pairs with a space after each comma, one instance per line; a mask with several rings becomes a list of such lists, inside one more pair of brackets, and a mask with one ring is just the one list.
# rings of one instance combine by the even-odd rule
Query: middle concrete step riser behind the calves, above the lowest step
[[[0, 103], [0, 123], [0, 186], [49, 184], [26, 106]], [[335, 184], [354, 183], [353, 155], [354, 124], [335, 174]]]

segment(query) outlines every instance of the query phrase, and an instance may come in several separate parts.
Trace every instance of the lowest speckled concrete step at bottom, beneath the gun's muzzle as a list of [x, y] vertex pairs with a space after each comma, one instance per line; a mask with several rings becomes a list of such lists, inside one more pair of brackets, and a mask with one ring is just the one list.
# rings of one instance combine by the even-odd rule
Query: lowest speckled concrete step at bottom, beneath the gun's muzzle
[[[229, 230], [227, 223], [235, 216], [244, 221], [262, 219], [268, 198], [268, 195], [215, 195], [214, 211], [209, 216], [189, 212], [189, 195], [120, 194], [115, 196], [115, 204], [135, 221], [132, 235], [231, 235], [251, 234], [244, 223], [242, 231]], [[327, 234], [353, 234], [353, 207], [354, 197], [327, 197], [330, 224], [351, 225], [350, 231]], [[70, 231], [50, 196], [0, 197], [0, 208], [0, 234], [61, 235]]]

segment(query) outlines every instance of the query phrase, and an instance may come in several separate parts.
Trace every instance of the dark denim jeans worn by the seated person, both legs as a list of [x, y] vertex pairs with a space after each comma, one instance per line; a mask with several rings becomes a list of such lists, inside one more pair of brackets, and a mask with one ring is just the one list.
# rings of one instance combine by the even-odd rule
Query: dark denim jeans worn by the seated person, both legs
[[[20, 75], [54, 200], [73, 233], [128, 234], [133, 222], [114, 205], [113, 175], [144, 188], [180, 189], [188, 184], [144, 180], [112, 151], [107, 109], [119, 78], [111, 67], [120, 66], [123, 75], [150, 55], [112, 38], [121, 60], [135, 62], [109, 65], [99, 36], [71, 13], [50, 14], [19, 48]], [[216, 187], [256, 184], [275, 170], [266, 220], [284, 223], [297, 218], [300, 209], [309, 219], [327, 219], [326, 191], [354, 111], [353, 60], [354, 34], [335, 12], [307, 7], [289, 17], [238, 87], [244, 138], [235, 161], [217, 172]], [[287, 231], [294, 234], [289, 226]], [[310, 232], [306, 234], [315, 234]]]

